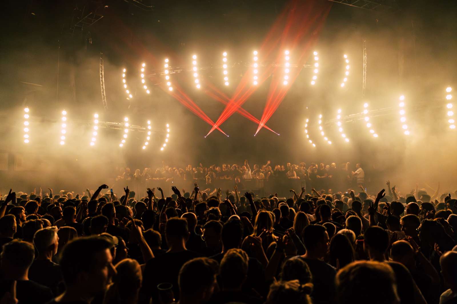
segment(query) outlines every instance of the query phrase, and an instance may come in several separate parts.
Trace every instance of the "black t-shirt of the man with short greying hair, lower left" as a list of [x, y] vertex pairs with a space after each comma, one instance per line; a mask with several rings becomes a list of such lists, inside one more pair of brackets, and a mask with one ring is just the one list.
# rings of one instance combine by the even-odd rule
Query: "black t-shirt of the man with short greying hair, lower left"
[[28, 277], [32, 281], [51, 288], [54, 294], [62, 291], [58, 289], [59, 284], [64, 281], [60, 265], [52, 261], [34, 260], [29, 268]]

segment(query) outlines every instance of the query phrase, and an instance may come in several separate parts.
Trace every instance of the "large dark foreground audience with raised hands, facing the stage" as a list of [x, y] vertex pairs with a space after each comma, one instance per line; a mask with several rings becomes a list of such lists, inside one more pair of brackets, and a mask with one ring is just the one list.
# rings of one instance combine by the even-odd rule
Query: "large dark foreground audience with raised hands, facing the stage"
[[106, 184], [82, 195], [10, 190], [0, 197], [0, 301], [457, 303], [457, 191], [386, 184], [286, 198], [236, 184], [210, 195], [197, 181], [139, 199]]

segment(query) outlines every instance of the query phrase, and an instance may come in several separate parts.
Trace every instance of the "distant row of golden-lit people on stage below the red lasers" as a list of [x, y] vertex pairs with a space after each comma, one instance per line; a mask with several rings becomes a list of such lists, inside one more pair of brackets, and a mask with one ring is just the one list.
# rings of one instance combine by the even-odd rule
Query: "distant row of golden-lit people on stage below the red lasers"
[[[222, 166], [211, 165], [198, 166], [187, 165], [186, 168], [173, 167], [162, 162], [160, 168], [153, 171], [151, 168], [143, 170], [136, 169], [132, 174], [130, 168], [120, 168], [116, 177], [119, 184], [133, 182], [133, 188], [137, 194], [145, 195], [145, 185], [149, 183], [171, 183], [191, 187], [197, 182], [204, 189], [211, 189], [215, 192], [218, 187], [226, 188], [228, 185], [236, 185], [239, 190], [253, 190], [254, 185], [250, 181], [282, 181], [298, 180], [299, 185], [308, 189], [346, 189], [356, 184], [365, 182], [365, 172], [361, 164], [357, 163], [355, 168], [349, 162], [336, 165], [324, 164], [324, 162], [314, 163], [309, 166], [305, 162], [286, 165], [273, 165], [270, 161], [266, 164], [254, 164], [251, 168], [248, 160], [243, 164], [222, 164]], [[255, 184], [257, 186], [257, 184]], [[276, 188], [281, 188], [281, 184], [275, 184]], [[290, 185], [289, 185], [290, 187]], [[331, 191], [330, 191], [331, 192]]]

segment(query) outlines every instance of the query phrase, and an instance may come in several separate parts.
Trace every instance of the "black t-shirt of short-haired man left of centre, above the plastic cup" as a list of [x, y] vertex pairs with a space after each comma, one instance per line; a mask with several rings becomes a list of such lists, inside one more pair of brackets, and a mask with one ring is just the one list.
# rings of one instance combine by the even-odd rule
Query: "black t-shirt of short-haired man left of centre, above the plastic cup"
[[[157, 294], [157, 285], [160, 283], [173, 284], [173, 293], [175, 299], [179, 298], [178, 287], [178, 274], [182, 265], [187, 261], [200, 257], [197, 252], [185, 250], [181, 252], [165, 252], [159, 257], [149, 260], [144, 267], [143, 283], [141, 285], [140, 293], [146, 296], [153, 296]], [[153, 301], [154, 303], [154, 301]]]

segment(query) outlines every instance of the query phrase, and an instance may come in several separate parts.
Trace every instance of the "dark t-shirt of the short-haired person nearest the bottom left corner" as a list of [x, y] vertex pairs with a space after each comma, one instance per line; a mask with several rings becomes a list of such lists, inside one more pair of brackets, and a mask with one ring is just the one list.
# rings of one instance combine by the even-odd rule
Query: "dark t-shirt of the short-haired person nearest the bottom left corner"
[[[1, 284], [3, 285], [5, 282]], [[51, 301], [53, 297], [53, 292], [49, 287], [38, 284], [31, 280], [17, 280], [17, 304], [45, 304]]]

